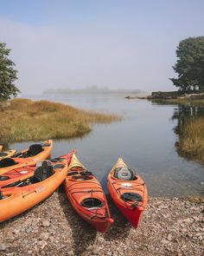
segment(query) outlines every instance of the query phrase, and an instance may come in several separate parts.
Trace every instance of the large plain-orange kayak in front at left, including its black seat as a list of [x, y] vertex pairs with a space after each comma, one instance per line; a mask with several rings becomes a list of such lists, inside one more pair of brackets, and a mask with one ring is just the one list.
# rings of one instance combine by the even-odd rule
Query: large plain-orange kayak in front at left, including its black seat
[[67, 176], [70, 154], [56, 161], [42, 161], [29, 179], [0, 190], [0, 222], [23, 213], [54, 193]]

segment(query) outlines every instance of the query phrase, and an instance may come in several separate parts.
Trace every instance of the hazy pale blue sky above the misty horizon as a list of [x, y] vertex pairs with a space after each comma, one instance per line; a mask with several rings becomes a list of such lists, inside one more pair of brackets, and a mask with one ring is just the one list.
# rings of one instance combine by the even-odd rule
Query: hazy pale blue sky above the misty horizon
[[0, 0], [0, 41], [23, 93], [173, 90], [176, 46], [204, 36], [203, 11], [202, 0]]

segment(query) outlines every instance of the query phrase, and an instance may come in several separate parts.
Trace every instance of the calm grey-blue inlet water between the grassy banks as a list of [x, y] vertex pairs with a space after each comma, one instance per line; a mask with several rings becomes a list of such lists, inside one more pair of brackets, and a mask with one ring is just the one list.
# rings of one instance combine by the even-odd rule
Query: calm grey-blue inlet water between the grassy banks
[[[123, 95], [27, 97], [124, 116], [120, 122], [95, 125], [92, 132], [83, 138], [54, 141], [53, 156], [60, 156], [76, 148], [80, 161], [96, 174], [105, 190], [106, 175], [121, 156], [142, 175], [150, 195], [180, 197], [203, 194], [204, 167], [180, 157], [175, 151], [177, 135], [174, 128], [177, 119], [172, 117], [180, 111], [177, 106], [126, 100]], [[190, 111], [186, 110], [187, 115], [191, 115]], [[14, 143], [10, 144], [10, 148], [21, 150], [29, 144]]]

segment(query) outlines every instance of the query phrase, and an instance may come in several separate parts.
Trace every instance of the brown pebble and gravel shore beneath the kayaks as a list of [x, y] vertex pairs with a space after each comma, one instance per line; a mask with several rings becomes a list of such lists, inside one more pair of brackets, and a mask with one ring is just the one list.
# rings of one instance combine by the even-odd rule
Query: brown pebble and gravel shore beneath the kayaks
[[204, 255], [204, 206], [150, 198], [137, 229], [109, 200], [112, 228], [97, 233], [57, 191], [40, 205], [0, 224], [0, 255]]

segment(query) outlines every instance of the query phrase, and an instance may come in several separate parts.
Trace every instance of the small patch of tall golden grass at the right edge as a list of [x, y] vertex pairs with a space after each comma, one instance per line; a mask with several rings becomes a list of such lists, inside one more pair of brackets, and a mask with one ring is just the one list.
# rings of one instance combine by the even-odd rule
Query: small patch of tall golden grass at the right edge
[[204, 164], [204, 117], [193, 117], [185, 121], [178, 151]]

